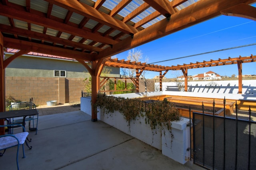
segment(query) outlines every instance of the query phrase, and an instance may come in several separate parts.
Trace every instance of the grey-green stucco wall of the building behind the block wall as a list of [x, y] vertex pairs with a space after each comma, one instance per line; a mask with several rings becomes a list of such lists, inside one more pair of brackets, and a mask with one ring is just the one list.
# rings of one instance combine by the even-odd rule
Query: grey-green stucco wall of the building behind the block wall
[[[6, 55], [9, 57], [10, 55]], [[77, 61], [20, 56], [5, 69], [6, 76], [54, 77], [54, 70], [66, 71], [66, 78], [88, 78], [88, 70]], [[119, 77], [120, 69], [111, 67], [109, 76]]]

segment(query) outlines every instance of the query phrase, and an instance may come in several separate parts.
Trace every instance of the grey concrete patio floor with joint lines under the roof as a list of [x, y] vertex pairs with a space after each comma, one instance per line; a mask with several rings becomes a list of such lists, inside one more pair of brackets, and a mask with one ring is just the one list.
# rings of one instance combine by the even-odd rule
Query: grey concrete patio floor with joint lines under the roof
[[[192, 162], [175, 162], [102, 121], [92, 122], [90, 115], [79, 110], [41, 115], [38, 134], [29, 131], [29, 138], [32, 149], [24, 146], [26, 158], [20, 147], [20, 170], [203, 169]], [[0, 157], [0, 169], [16, 169], [16, 147]]]

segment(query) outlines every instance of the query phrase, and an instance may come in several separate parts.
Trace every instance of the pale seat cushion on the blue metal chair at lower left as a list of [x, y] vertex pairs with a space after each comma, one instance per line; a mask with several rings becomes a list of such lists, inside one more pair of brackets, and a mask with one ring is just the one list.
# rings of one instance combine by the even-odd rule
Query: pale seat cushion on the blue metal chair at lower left
[[[23, 144], [26, 140], [26, 137], [28, 136], [28, 132], [17, 133], [14, 136], [16, 136], [19, 139], [20, 144]], [[15, 145], [18, 145], [18, 141], [14, 137], [6, 136], [0, 138], [0, 150]]]

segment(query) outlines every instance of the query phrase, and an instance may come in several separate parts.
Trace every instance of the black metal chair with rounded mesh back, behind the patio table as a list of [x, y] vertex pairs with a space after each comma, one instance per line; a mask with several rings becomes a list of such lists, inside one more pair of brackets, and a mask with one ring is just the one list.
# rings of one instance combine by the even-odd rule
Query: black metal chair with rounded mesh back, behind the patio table
[[[36, 109], [36, 105], [32, 102], [17, 102], [17, 103], [10, 105], [10, 111], [12, 111], [12, 110], [27, 110], [27, 109]], [[28, 121], [29, 130], [36, 131], [36, 134], [37, 134], [38, 115], [26, 117], [25, 123], [26, 123], [26, 121]], [[30, 127], [31, 121], [32, 121], [32, 125], [33, 125], [32, 127]], [[14, 123], [23, 125], [23, 117], [9, 119], [9, 124], [14, 124]], [[25, 125], [23, 125], [23, 126], [25, 127]], [[10, 130], [10, 132], [13, 133], [13, 128]]]

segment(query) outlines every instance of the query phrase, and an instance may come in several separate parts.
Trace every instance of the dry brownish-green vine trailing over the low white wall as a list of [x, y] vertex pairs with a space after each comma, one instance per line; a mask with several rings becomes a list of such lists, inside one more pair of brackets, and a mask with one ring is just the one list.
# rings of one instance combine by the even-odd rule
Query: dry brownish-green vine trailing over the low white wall
[[157, 125], [166, 125], [171, 131], [171, 121], [180, 120], [180, 113], [172, 102], [166, 98], [163, 101], [146, 103], [140, 99], [125, 99], [121, 97], [106, 96], [98, 94], [94, 111], [97, 113], [97, 107], [103, 109], [103, 113], [113, 113], [115, 110], [124, 115], [130, 125], [136, 117], [144, 117], [146, 123], [150, 124], [151, 130], [156, 129]]

